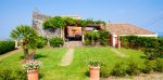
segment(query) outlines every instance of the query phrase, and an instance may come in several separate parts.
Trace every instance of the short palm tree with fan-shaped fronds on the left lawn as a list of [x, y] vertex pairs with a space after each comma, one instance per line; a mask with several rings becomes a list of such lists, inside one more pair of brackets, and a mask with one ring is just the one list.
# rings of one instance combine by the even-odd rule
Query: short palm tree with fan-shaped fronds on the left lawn
[[[21, 41], [21, 46], [23, 48], [26, 59], [29, 59], [30, 56], [34, 58], [37, 43], [37, 32], [33, 27], [26, 25], [17, 26], [11, 31], [10, 37]], [[29, 49], [33, 49], [30, 54]]]

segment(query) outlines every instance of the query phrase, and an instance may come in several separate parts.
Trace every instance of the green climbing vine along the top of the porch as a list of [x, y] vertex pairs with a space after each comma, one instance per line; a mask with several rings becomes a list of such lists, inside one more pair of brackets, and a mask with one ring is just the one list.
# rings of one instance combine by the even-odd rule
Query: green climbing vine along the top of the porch
[[103, 21], [88, 19], [74, 19], [72, 17], [54, 16], [43, 22], [43, 29], [57, 29], [65, 26], [82, 26], [85, 27], [87, 24], [105, 24]]

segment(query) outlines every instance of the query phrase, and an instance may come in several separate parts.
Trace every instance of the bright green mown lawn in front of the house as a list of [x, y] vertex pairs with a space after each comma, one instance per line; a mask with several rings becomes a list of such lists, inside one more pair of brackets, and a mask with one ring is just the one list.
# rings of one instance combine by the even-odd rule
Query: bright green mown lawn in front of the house
[[[60, 66], [61, 59], [68, 49], [39, 49], [37, 50], [36, 58], [42, 62], [42, 67], [39, 72], [41, 75], [40, 80], [88, 80], [88, 65], [89, 58], [98, 59], [106, 64], [110, 71], [115, 63], [121, 61], [138, 59], [142, 62], [143, 53], [140, 51], [117, 49], [117, 51], [124, 53], [127, 57], [121, 57], [111, 50], [110, 46], [95, 46], [95, 48], [75, 48], [74, 59], [70, 66]], [[0, 55], [1, 58], [2, 55]], [[23, 52], [13, 52], [12, 55], [0, 59], [0, 69], [2, 68], [16, 68], [22, 67]]]

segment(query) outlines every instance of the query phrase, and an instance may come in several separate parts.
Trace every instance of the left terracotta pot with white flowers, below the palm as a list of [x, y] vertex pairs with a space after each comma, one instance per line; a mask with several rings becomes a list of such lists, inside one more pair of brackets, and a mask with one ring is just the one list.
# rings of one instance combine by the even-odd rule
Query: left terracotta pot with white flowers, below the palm
[[28, 80], [38, 80], [38, 74], [41, 63], [39, 61], [33, 59], [27, 61], [23, 64], [23, 68], [27, 70]]

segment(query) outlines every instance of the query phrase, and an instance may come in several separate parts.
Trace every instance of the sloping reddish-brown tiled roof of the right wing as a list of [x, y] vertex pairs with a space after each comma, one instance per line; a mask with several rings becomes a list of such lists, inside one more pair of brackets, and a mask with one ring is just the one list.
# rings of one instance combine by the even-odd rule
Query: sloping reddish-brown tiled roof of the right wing
[[155, 35], [155, 32], [126, 23], [106, 24], [106, 30], [115, 35]]

